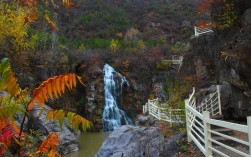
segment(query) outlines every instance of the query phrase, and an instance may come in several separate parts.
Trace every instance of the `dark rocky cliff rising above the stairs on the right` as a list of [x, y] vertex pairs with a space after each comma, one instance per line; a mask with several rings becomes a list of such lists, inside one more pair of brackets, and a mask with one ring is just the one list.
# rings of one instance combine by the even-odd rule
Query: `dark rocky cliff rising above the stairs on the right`
[[193, 73], [199, 88], [221, 84], [225, 118], [240, 119], [251, 115], [250, 9], [242, 15], [242, 29], [202, 35], [191, 40], [185, 56], [184, 71]]

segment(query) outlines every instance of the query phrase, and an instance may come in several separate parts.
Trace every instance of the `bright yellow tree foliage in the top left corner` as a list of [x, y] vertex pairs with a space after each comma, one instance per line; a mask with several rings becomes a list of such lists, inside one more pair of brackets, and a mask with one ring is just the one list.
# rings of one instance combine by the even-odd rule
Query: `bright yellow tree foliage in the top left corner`
[[15, 51], [32, 48], [28, 41], [28, 25], [25, 18], [25, 8], [14, 7], [14, 4], [0, 4], [0, 46], [7, 46], [10, 43]]

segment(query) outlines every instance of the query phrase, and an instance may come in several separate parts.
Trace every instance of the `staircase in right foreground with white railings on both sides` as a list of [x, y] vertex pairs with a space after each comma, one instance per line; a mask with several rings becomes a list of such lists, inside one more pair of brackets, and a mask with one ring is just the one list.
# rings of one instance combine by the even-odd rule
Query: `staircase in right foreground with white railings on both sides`
[[200, 105], [195, 88], [185, 100], [188, 142], [193, 141], [206, 157], [251, 157], [251, 117], [247, 125], [212, 118], [222, 115], [219, 89]]

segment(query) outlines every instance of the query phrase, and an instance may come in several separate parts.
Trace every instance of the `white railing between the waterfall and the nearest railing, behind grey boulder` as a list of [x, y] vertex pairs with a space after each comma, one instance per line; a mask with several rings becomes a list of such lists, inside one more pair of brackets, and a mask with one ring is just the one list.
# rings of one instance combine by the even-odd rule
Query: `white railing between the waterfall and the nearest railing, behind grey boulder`
[[163, 120], [169, 122], [171, 125], [173, 123], [183, 123], [184, 110], [183, 109], [172, 109], [163, 108], [163, 104], [159, 105], [159, 100], [153, 99], [148, 100], [148, 102], [143, 106], [143, 113], [149, 112], [150, 115], [154, 116], [158, 120]]

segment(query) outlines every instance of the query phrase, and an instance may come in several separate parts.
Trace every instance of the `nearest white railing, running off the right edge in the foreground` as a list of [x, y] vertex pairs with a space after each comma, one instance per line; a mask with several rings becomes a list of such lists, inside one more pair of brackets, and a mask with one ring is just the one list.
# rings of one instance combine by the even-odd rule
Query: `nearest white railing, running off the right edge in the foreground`
[[[196, 110], [194, 91], [189, 99], [185, 100], [188, 142], [193, 141], [206, 157], [251, 157], [251, 117], [247, 118], [247, 125], [211, 119], [208, 111], [203, 111], [202, 114]], [[218, 131], [212, 129], [213, 127], [218, 127]], [[245, 134], [247, 138], [227, 135], [219, 131], [222, 129]], [[216, 136], [228, 142], [217, 140]], [[233, 143], [238, 144], [239, 147], [231, 145]]]

